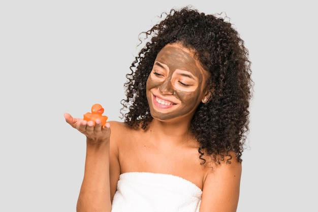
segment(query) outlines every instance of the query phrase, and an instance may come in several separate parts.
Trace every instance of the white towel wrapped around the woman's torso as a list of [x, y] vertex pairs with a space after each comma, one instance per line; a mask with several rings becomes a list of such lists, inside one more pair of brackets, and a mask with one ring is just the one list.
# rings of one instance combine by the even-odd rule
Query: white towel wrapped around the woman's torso
[[112, 212], [196, 212], [202, 190], [171, 174], [128, 172], [120, 174]]

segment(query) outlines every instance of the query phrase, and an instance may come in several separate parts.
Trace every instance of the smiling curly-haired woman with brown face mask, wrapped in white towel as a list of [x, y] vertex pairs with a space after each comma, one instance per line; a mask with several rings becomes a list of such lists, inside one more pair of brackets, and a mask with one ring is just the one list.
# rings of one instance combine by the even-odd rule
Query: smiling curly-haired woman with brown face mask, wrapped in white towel
[[87, 137], [77, 211], [236, 211], [252, 84], [243, 40], [188, 7], [145, 34], [124, 121], [65, 114]]

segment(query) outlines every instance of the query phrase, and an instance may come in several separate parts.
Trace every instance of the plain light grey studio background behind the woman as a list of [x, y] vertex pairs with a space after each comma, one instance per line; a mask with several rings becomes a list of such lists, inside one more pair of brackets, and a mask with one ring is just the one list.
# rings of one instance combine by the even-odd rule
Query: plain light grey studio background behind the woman
[[226, 12], [252, 61], [239, 212], [317, 211], [317, 15], [311, 1], [2, 1], [0, 211], [75, 211], [85, 137], [63, 118], [119, 119], [139, 32], [188, 4]]

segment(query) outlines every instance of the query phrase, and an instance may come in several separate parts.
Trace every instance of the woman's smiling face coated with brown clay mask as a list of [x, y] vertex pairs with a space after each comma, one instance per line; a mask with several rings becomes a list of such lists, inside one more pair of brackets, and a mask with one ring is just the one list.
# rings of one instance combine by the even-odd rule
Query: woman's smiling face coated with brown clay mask
[[168, 44], [157, 55], [147, 80], [147, 99], [154, 119], [191, 120], [207, 94], [208, 72], [193, 50]]

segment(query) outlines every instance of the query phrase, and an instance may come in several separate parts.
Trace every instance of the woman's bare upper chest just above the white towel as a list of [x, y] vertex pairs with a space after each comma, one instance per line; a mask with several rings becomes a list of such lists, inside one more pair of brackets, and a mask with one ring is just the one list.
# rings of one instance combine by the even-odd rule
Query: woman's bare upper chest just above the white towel
[[[169, 142], [169, 141], [167, 141]], [[126, 140], [118, 149], [121, 173], [151, 172], [180, 176], [202, 189], [207, 167], [193, 147], [157, 147], [143, 139]]]

